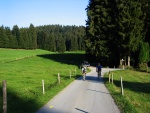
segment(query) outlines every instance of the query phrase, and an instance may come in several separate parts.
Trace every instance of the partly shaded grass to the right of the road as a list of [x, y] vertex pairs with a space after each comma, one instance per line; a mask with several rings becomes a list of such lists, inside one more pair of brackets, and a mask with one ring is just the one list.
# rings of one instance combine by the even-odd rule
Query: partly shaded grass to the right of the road
[[[105, 85], [113, 96], [122, 113], [149, 113], [150, 109], [150, 74], [133, 70], [120, 70], [114, 73], [114, 82]], [[124, 95], [121, 95], [120, 76], [123, 78]]]

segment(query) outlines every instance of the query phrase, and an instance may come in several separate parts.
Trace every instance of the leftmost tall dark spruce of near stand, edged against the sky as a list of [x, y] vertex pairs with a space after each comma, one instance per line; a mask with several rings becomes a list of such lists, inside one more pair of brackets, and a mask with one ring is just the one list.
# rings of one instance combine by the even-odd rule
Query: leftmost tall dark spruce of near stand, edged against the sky
[[[107, 39], [110, 37], [107, 23], [110, 16], [107, 0], [90, 0], [87, 7], [88, 20], [86, 22], [86, 52], [94, 55], [98, 60], [108, 60], [109, 51]], [[105, 61], [104, 61], [105, 60]]]

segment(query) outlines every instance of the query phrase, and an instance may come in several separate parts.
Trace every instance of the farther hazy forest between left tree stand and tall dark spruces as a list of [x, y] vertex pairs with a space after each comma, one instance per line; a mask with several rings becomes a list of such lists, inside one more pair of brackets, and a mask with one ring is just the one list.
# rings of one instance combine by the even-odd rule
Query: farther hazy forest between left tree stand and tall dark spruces
[[84, 26], [45, 25], [36, 30], [38, 48], [58, 52], [85, 50]]

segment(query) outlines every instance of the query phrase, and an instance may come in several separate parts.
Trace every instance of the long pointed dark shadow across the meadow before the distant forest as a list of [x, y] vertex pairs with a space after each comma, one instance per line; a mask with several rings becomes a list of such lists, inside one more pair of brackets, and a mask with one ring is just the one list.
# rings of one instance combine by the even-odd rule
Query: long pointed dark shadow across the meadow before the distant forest
[[56, 53], [56, 54], [44, 54], [44, 55], [37, 55], [38, 57], [50, 59], [56, 62], [61, 62], [65, 64], [80, 65], [83, 63], [84, 60], [87, 60], [87, 57], [84, 54], [73, 54], [73, 53]]

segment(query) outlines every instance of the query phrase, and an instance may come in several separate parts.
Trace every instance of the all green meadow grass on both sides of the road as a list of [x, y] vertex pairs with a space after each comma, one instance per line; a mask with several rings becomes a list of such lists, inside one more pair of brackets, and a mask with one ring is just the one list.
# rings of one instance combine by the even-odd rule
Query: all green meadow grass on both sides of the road
[[[80, 64], [86, 60], [85, 52], [54, 53], [45, 50], [0, 49], [0, 88], [7, 81], [7, 112], [35, 113], [56, 94], [81, 76]], [[71, 79], [70, 79], [71, 71]], [[60, 73], [60, 84], [58, 83]], [[120, 70], [114, 74], [113, 84], [106, 87], [122, 113], [148, 113], [150, 106], [150, 74], [133, 70]], [[121, 95], [120, 76], [124, 95]], [[45, 94], [42, 93], [42, 80]], [[0, 113], [3, 111], [3, 93], [0, 92]]]

